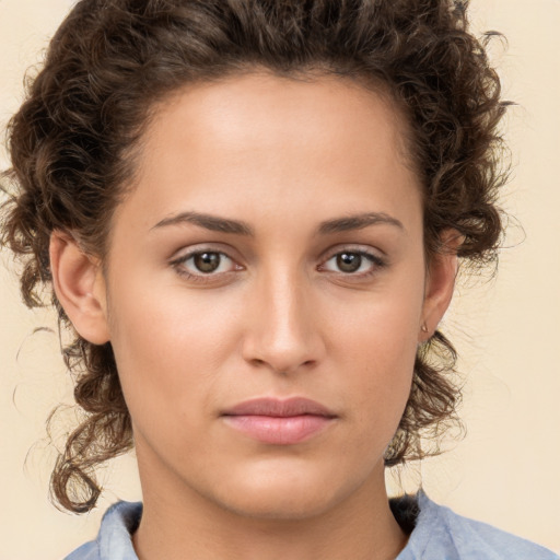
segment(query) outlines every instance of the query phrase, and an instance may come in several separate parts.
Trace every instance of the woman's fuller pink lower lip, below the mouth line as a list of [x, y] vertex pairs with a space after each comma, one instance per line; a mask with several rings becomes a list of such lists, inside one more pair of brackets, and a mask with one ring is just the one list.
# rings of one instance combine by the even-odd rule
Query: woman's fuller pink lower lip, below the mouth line
[[229, 425], [262, 443], [292, 445], [310, 440], [332, 422], [315, 415], [290, 417], [225, 416]]

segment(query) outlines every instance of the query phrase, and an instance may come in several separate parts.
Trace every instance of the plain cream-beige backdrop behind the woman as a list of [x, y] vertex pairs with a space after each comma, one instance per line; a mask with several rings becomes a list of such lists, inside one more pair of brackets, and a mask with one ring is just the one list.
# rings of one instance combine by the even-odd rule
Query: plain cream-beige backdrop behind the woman
[[[0, 0], [2, 124], [21, 102], [24, 70], [40, 60], [70, 3]], [[404, 485], [421, 478], [433, 499], [457, 512], [560, 552], [560, 0], [474, 0], [472, 22], [510, 42], [505, 52], [492, 48], [505, 95], [520, 104], [508, 118], [515, 168], [503, 206], [526, 238], [520, 245], [523, 235], [512, 228], [498, 279], [458, 291], [445, 323], [463, 355], [467, 438], [405, 472]], [[71, 387], [56, 335], [32, 336], [56, 323], [24, 308], [0, 256], [0, 560], [59, 559], [95, 535], [107, 503], [139, 499], [135, 463], [108, 467], [106, 497], [90, 515], [49, 504], [54, 451], [44, 421]]]

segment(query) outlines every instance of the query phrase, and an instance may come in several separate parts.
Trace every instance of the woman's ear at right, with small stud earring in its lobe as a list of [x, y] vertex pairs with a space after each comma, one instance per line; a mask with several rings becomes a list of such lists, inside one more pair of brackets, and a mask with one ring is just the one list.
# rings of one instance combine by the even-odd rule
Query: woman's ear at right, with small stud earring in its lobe
[[447, 311], [453, 298], [457, 276], [457, 249], [465, 236], [457, 230], [444, 230], [440, 235], [441, 250], [429, 262], [419, 342], [425, 342], [433, 335]]

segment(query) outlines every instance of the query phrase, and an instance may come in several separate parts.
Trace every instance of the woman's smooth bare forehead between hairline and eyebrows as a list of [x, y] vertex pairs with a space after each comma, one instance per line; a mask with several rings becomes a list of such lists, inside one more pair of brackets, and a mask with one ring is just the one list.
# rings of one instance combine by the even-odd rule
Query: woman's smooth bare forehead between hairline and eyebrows
[[342, 200], [362, 210], [374, 191], [388, 195], [377, 210], [394, 213], [387, 205], [419, 192], [405, 129], [387, 94], [350, 80], [250, 73], [190, 84], [156, 107], [131, 202], [152, 225], [188, 207], [222, 215], [258, 207], [266, 217], [291, 205], [292, 217], [313, 208], [320, 220]]

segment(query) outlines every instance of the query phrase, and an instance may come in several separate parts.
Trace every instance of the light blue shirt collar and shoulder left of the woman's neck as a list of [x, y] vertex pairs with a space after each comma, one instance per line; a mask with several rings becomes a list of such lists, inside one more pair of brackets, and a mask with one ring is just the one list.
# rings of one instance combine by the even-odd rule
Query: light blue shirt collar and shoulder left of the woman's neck
[[95, 540], [82, 545], [65, 560], [138, 560], [132, 546], [132, 534], [140, 523], [140, 502], [118, 502], [103, 516]]

